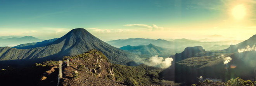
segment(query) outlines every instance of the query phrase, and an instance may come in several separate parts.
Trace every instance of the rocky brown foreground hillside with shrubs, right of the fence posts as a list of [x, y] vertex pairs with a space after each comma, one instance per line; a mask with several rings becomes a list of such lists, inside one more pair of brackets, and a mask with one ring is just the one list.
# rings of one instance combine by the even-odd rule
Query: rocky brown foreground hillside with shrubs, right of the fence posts
[[[146, 65], [131, 67], [111, 64], [107, 57], [97, 50], [68, 56], [64, 59], [67, 58], [75, 61], [71, 61], [70, 66], [64, 68], [63, 86], [129, 86], [131, 83], [127, 82], [128, 79], [134, 81], [133, 84], [138, 86], [163, 86], [161, 84], [166, 84], [165, 82], [170, 83], [170, 81], [161, 82], [157, 75], [161, 69]], [[78, 73], [75, 74], [74, 71], [78, 71]], [[176, 83], [172, 84], [177, 85]]]

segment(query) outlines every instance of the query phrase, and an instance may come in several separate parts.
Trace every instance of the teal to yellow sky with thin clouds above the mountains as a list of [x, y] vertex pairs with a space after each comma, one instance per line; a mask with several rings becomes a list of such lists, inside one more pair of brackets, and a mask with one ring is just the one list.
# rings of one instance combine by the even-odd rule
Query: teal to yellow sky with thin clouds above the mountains
[[0, 0], [0, 36], [246, 40], [255, 15], [256, 0]]

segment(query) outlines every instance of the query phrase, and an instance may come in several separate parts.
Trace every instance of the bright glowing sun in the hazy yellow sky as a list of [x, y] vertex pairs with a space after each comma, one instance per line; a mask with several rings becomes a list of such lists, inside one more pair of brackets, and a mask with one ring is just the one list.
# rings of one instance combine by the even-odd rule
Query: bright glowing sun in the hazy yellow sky
[[242, 20], [246, 16], [246, 7], [242, 4], [232, 8], [232, 15], [236, 20]]

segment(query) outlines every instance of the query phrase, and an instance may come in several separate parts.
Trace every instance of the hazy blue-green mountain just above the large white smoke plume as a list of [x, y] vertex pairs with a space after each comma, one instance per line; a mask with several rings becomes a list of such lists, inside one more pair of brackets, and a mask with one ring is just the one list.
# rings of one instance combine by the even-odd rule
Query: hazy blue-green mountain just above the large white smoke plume
[[[140, 57], [149, 58], [151, 56], [163, 56], [163, 57], [169, 57], [173, 52], [169, 50], [168, 48], [162, 48], [153, 44], [149, 45], [140, 45], [140, 46], [123, 46], [120, 49], [140, 55]], [[174, 53], [174, 52], [173, 52]]]

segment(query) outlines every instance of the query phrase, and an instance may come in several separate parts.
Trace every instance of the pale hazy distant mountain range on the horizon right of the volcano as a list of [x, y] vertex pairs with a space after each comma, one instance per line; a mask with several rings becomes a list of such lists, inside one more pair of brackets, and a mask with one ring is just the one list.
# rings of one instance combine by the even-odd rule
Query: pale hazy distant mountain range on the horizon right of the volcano
[[168, 48], [175, 53], [180, 53], [187, 46], [202, 46], [205, 50], [223, 50], [227, 49], [232, 43], [238, 43], [239, 41], [211, 41], [211, 42], [201, 42], [199, 40], [188, 40], [188, 39], [176, 39], [171, 41], [166, 41], [162, 39], [145, 39], [145, 38], [129, 38], [125, 40], [112, 40], [107, 41], [112, 46], [120, 48], [122, 46], [140, 46], [149, 45], [150, 43], [163, 48]]

